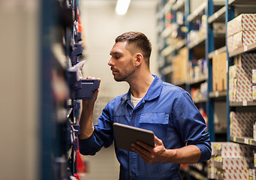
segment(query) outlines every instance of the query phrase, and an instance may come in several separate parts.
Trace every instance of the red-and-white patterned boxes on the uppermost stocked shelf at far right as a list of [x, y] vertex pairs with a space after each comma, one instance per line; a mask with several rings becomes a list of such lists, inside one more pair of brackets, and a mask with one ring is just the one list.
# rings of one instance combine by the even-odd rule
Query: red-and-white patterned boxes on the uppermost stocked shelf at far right
[[242, 13], [227, 23], [227, 49], [232, 52], [256, 43], [256, 13]]

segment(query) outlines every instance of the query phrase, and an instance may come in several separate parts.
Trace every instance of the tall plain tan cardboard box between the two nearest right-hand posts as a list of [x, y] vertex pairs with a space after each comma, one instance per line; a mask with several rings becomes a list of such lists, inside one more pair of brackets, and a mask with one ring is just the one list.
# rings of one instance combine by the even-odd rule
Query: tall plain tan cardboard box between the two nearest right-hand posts
[[212, 89], [227, 90], [227, 53], [222, 52], [212, 57]]

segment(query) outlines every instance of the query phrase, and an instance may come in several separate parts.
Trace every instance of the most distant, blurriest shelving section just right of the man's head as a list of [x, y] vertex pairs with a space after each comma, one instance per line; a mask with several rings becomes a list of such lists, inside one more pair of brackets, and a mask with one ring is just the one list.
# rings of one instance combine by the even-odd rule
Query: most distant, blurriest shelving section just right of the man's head
[[178, 26], [177, 16], [184, 11], [184, 0], [160, 0], [157, 6], [157, 28], [158, 28], [158, 69], [161, 79], [170, 81], [173, 74], [172, 57], [185, 46], [185, 39], [179, 40], [173, 45], [171, 40]]

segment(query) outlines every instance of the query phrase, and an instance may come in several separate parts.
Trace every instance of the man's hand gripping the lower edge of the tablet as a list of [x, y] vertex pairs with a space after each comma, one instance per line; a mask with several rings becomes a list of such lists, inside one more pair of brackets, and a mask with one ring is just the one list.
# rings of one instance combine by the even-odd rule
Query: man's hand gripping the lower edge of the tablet
[[136, 142], [132, 145], [132, 150], [137, 152], [146, 163], [160, 163], [164, 162], [165, 151], [164, 144], [161, 139], [155, 136], [155, 147], [151, 147], [143, 142]]

